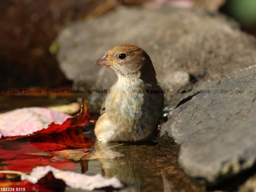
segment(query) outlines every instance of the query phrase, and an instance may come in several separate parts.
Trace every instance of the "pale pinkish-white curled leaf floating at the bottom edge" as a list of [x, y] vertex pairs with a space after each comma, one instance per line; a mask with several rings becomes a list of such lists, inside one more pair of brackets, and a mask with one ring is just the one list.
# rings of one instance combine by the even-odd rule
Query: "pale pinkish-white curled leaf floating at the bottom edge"
[[113, 187], [115, 189], [123, 188], [124, 185], [116, 178], [104, 178], [102, 175], [88, 176], [72, 171], [61, 171], [51, 166], [36, 167], [30, 175], [21, 175], [21, 180], [28, 180], [31, 183], [37, 183], [38, 180], [45, 177], [47, 173], [52, 172], [56, 179], [61, 179], [65, 184], [74, 189], [93, 190], [103, 187]]

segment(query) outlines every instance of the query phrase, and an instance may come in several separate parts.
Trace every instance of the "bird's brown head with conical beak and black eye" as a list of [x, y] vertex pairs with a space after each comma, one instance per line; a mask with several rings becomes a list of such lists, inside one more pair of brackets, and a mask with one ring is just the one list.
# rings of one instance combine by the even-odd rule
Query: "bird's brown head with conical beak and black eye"
[[117, 45], [99, 58], [96, 65], [111, 68], [119, 77], [147, 80], [156, 76], [148, 54], [134, 45]]

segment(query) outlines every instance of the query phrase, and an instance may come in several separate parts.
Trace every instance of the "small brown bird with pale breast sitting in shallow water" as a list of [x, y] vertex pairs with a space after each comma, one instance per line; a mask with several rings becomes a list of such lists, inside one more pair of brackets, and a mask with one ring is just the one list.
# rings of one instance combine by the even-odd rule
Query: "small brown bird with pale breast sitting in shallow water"
[[164, 91], [149, 55], [135, 45], [117, 45], [95, 65], [112, 69], [117, 80], [103, 99], [94, 133], [100, 142], [148, 140], [158, 126]]

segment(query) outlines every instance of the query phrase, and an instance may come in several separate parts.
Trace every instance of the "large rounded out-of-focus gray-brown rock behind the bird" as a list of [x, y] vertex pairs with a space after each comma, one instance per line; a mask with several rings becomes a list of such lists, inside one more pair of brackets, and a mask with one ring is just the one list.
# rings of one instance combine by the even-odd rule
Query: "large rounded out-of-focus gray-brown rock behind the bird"
[[[242, 33], [223, 15], [200, 8], [119, 8], [65, 28], [57, 40], [60, 68], [85, 89], [104, 90], [113, 84], [116, 75], [94, 65], [109, 48], [118, 44], [141, 47], [153, 61], [159, 84], [168, 92], [169, 108], [184, 97], [179, 90], [198, 89], [256, 61], [254, 37]], [[89, 97], [87, 93], [84, 97], [89, 97], [90, 106], [98, 112], [103, 95]]]

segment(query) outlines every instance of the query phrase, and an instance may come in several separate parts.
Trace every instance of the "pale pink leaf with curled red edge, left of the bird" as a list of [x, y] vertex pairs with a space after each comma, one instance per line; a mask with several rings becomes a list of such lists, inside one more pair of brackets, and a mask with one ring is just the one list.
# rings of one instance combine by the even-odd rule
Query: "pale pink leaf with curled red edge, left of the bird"
[[74, 117], [46, 108], [17, 109], [0, 115], [0, 142], [60, 133], [67, 128], [82, 126], [89, 120], [89, 111], [83, 99], [81, 111]]

